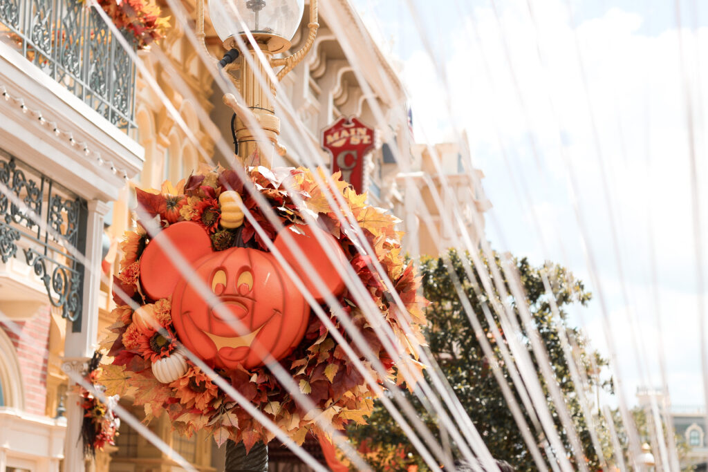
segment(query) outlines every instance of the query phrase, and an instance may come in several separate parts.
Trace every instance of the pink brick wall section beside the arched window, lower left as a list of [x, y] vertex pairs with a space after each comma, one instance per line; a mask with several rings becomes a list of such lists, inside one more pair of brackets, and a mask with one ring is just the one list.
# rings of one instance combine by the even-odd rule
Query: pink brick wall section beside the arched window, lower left
[[49, 306], [42, 308], [28, 321], [16, 322], [22, 331], [18, 337], [2, 327], [17, 351], [20, 372], [25, 387], [25, 410], [37, 415], [45, 414], [47, 403], [47, 359], [49, 357]]

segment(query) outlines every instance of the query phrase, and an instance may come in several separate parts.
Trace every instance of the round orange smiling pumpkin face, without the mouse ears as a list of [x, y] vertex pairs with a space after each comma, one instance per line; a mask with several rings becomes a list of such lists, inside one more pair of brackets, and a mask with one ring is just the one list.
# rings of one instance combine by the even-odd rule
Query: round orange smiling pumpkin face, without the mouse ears
[[172, 321], [185, 347], [202, 359], [250, 369], [264, 356], [284, 357], [302, 340], [309, 306], [273, 255], [232, 248], [201, 258], [194, 269], [211, 297], [203, 299], [182, 279], [172, 296]]

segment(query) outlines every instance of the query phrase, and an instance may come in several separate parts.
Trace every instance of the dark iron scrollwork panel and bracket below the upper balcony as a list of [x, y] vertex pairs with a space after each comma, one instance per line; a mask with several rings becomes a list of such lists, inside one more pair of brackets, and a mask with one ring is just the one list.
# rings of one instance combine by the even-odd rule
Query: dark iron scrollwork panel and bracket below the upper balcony
[[23, 248], [25, 262], [45, 285], [62, 316], [81, 315], [86, 200], [39, 171], [0, 151], [0, 258], [7, 263]]

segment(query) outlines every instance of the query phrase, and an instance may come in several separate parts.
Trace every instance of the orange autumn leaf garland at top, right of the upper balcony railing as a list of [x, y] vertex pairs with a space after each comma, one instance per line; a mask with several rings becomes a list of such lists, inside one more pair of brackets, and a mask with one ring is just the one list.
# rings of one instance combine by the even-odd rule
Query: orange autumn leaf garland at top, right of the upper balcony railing
[[152, 0], [96, 0], [96, 3], [110, 16], [116, 28], [130, 31], [139, 49], [165, 37], [169, 16], [161, 16], [160, 7]]

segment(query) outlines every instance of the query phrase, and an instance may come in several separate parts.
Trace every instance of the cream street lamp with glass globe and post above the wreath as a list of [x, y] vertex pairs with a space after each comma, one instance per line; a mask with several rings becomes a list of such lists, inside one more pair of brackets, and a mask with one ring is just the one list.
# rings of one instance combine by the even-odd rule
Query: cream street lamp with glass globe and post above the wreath
[[[202, 40], [203, 1], [198, 1], [197, 25]], [[280, 81], [312, 48], [319, 28], [317, 0], [311, 0], [309, 4], [309, 33], [304, 45], [295, 54], [278, 58], [274, 57], [275, 54], [290, 49], [290, 40], [295, 35], [304, 12], [304, 0], [208, 0], [208, 6], [212, 25], [222, 40], [224, 49], [239, 50], [237, 37], [246, 45], [246, 51], [238, 54], [238, 57], [235, 57], [236, 54], [227, 54], [229, 59], [224, 65], [224, 71], [245, 102], [245, 105], [241, 105], [231, 93], [224, 95], [224, 103], [236, 114], [234, 132], [239, 158], [244, 165], [249, 165], [249, 159], [257, 150], [260, 164], [270, 167], [274, 154], [285, 155], [285, 148], [278, 143], [280, 119], [275, 116], [275, 84], [268, 74], [268, 69], [281, 67], [275, 73], [276, 80]], [[251, 44], [246, 30], [255, 40], [257, 49]], [[261, 62], [258, 54], [263, 54], [267, 64]], [[222, 61], [222, 64], [224, 62], [226, 61]], [[239, 71], [238, 77], [234, 76], [236, 71]], [[249, 125], [254, 123], [263, 130], [270, 142], [258, 142], [257, 130]]]

